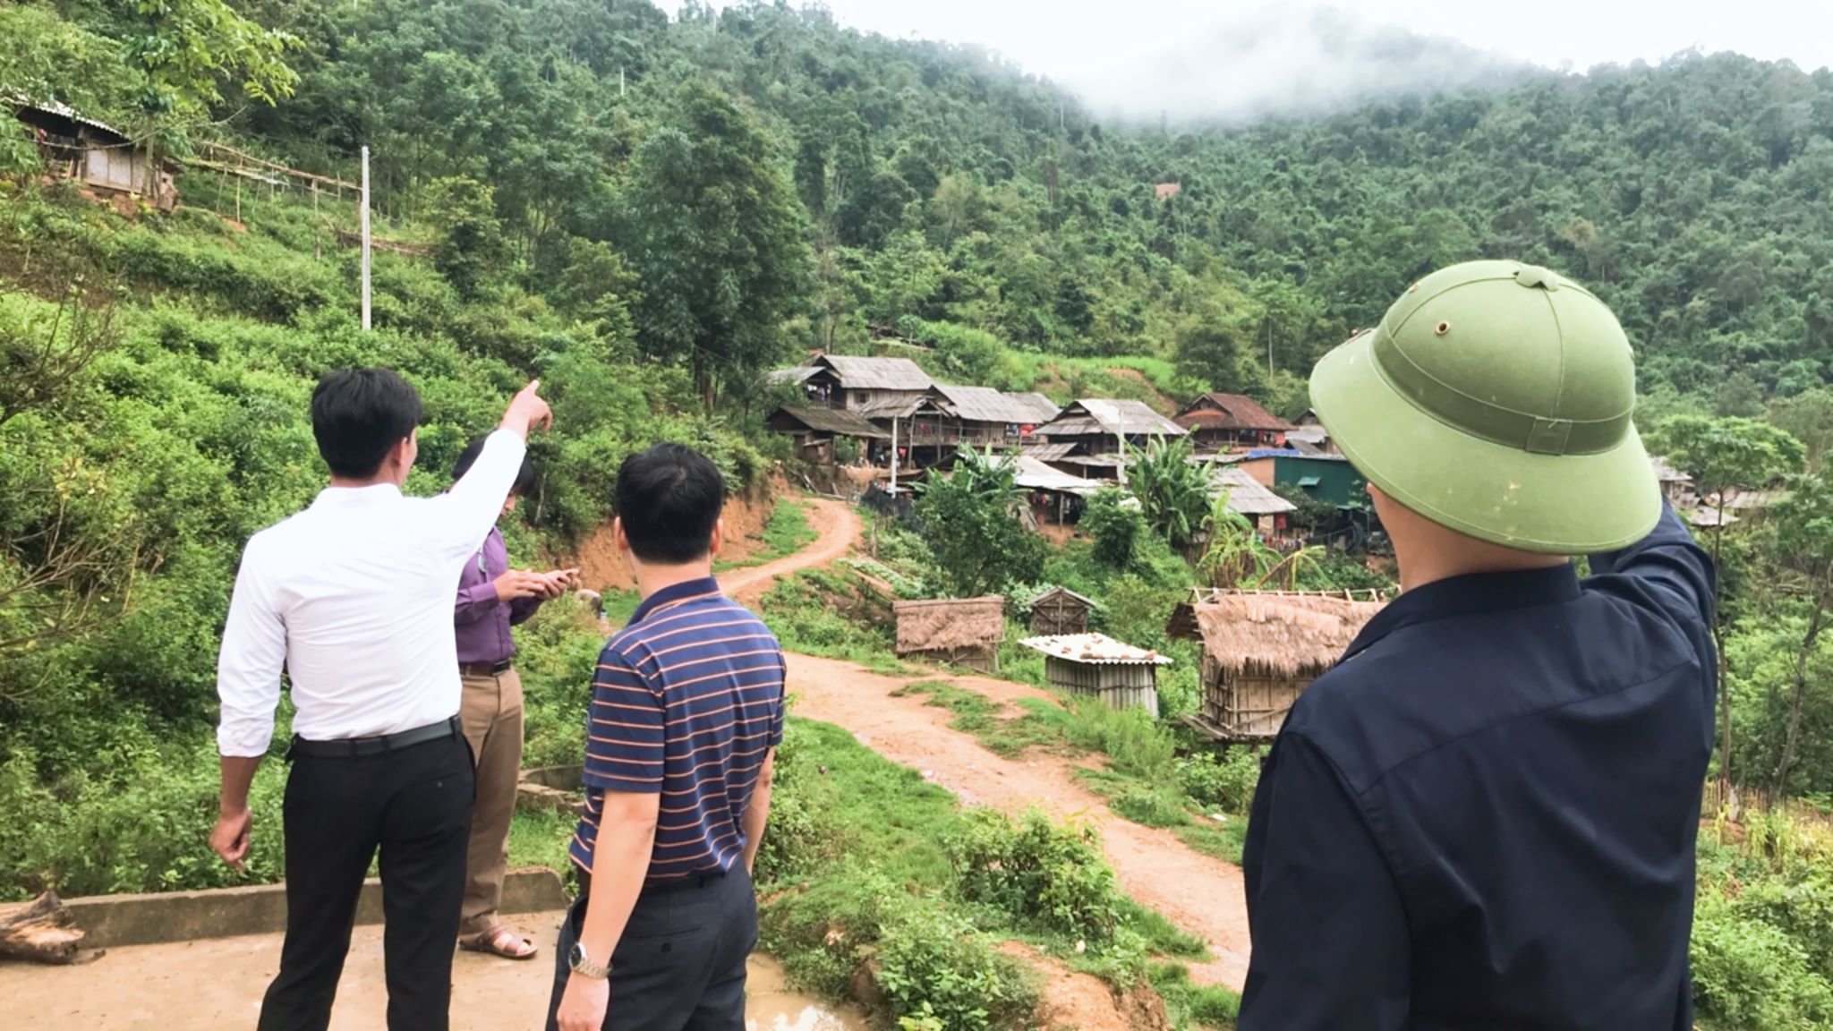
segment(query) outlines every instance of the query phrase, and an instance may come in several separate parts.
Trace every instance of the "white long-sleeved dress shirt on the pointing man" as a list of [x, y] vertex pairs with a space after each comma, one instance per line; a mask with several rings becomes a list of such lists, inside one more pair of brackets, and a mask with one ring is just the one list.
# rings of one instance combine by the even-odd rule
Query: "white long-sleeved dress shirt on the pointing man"
[[293, 734], [308, 741], [456, 715], [453, 593], [502, 514], [524, 451], [521, 437], [499, 429], [449, 493], [330, 486], [249, 538], [216, 659], [218, 750], [266, 754], [282, 664]]

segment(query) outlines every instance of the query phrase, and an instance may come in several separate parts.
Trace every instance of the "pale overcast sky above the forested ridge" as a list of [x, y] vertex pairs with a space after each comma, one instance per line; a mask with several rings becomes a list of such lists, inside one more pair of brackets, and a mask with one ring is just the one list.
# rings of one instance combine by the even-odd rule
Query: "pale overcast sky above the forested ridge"
[[[1274, 7], [1265, 0], [825, 6], [836, 20], [863, 31], [995, 50], [1076, 90], [1098, 110], [1149, 117], [1320, 106], [1395, 83], [1463, 81], [1488, 62], [1582, 72], [1699, 48], [1789, 59], [1806, 70], [1833, 64], [1828, 0], [1360, 0], [1338, 4], [1322, 18], [1312, 6]], [[1399, 42], [1404, 33], [1441, 40], [1424, 51], [1410, 50]]]

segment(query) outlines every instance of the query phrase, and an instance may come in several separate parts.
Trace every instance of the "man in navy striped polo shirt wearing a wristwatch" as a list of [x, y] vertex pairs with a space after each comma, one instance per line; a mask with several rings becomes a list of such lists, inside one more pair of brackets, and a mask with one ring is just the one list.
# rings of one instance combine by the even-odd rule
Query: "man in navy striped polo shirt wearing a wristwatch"
[[656, 444], [618, 468], [618, 549], [642, 604], [599, 653], [587, 715], [581, 892], [550, 1031], [742, 1031], [752, 862], [783, 739], [783, 651], [713, 582], [724, 479]]

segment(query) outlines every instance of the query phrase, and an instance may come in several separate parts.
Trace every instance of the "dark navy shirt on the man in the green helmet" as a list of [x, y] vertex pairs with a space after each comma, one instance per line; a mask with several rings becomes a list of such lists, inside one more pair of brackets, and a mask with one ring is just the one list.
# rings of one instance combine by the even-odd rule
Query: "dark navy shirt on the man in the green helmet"
[[1243, 851], [1241, 1031], [1686, 1031], [1712, 569], [1408, 591], [1292, 706]]

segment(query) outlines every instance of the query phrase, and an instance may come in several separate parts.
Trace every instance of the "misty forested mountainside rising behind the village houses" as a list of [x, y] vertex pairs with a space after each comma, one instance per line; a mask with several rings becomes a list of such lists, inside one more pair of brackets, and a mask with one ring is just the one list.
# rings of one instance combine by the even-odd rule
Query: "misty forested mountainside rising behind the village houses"
[[[137, 31], [106, 4], [59, 7], [97, 35]], [[1287, 374], [1413, 277], [1501, 255], [1604, 294], [1650, 385], [1752, 409], [1828, 374], [1826, 70], [1677, 57], [1206, 132], [1103, 125], [990, 55], [781, 6], [689, 4], [678, 20], [642, 0], [240, 9], [288, 33], [297, 81], [275, 83], [291, 95], [271, 106], [225, 90], [148, 112], [117, 51], [29, 7], [7, 28], [60, 33], [90, 72], [40, 68], [27, 46], [0, 59], [0, 81], [145, 119], [174, 147], [253, 136], [346, 178], [367, 143], [390, 215], [500, 226], [500, 248], [447, 268], [466, 288], [552, 297], [581, 279], [568, 270], [609, 261], [594, 249], [607, 242], [634, 277], [585, 277], [629, 306], [642, 349], [698, 354], [739, 385], [792, 345], [860, 349], [882, 327], [938, 345], [959, 376], [997, 378], [1001, 347], [1149, 354], [1289, 407], [1301, 394]], [[686, 327], [684, 306], [708, 297], [665, 268], [726, 246], [719, 226], [671, 211], [735, 172], [731, 125], [695, 112], [704, 90], [739, 101], [763, 134], [744, 160], [794, 193], [790, 211], [763, 194], [744, 205], [766, 238], [794, 237], [746, 255], [768, 268], [733, 270], [785, 316], [768, 330]], [[1158, 200], [1157, 183], [1180, 191]]]

